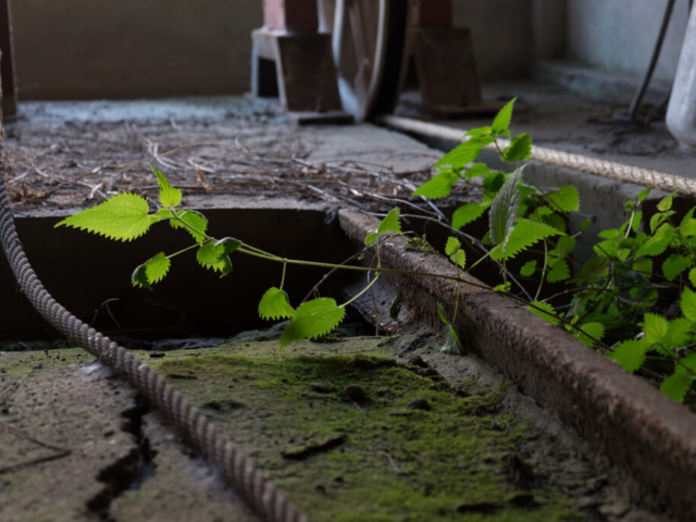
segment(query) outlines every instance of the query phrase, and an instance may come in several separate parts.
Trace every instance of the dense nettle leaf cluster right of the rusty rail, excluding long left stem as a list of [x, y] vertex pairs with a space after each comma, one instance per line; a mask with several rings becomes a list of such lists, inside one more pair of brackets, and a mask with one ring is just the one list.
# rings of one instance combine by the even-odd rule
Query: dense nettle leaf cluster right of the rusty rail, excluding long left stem
[[[420, 186], [414, 196], [444, 198], [457, 184], [478, 190], [481, 201], [459, 207], [450, 226], [459, 231], [488, 212], [488, 231], [480, 241], [488, 249], [483, 259], [490, 258], [502, 266], [504, 281], [495, 289], [512, 296], [509, 281], [512, 274], [506, 261], [537, 244], [543, 245], [540, 259], [538, 249], [530, 252], [533, 259], [520, 270], [523, 278], [536, 282], [536, 296], [525, 300], [518, 295], [515, 299], [526, 302], [531, 312], [563, 327], [577, 340], [604, 350], [624, 369], [634, 372], [642, 368], [646, 375], [662, 380], [661, 389], [675, 400], [683, 400], [696, 378], [693, 351], [696, 294], [686, 287], [687, 284], [696, 286], [696, 209], [675, 223], [674, 194], [671, 194], [658, 203], [658, 211], [649, 221], [649, 232], [644, 232], [648, 226], [644, 226], [639, 209], [649, 190], [642, 191], [635, 201], [626, 203], [626, 221], [618, 228], [599, 233], [594, 246], [596, 257], [573, 274], [571, 253], [575, 238], [586, 234], [589, 220], [573, 221], [571, 212], [580, 210], [580, 196], [574, 186], [542, 190], [524, 178], [524, 165], [519, 166], [518, 162], [531, 158], [532, 140], [527, 134], [515, 136], [502, 150], [498, 148], [498, 137], [511, 137], [509, 125], [514, 101], [498, 113], [490, 127], [467, 133], [467, 141], [436, 163], [438, 173]], [[494, 146], [510, 166], [510, 173], [493, 171], [476, 162], [484, 148]], [[445, 253], [458, 269], [465, 270], [463, 250], [461, 254], [456, 253], [459, 248], [459, 240], [452, 236]], [[658, 257], [662, 259], [661, 271], [654, 273]], [[545, 282], [563, 281], [571, 285], [567, 291], [540, 299]], [[669, 321], [647, 312], [659, 307], [666, 295], [675, 291], [681, 293], [682, 318]], [[562, 304], [562, 310], [557, 309], [552, 301], [563, 295], [572, 298]], [[444, 351], [460, 352], [451, 322], [443, 310], [440, 316], [451, 331]], [[604, 338], [611, 339], [613, 346], [602, 343]]]

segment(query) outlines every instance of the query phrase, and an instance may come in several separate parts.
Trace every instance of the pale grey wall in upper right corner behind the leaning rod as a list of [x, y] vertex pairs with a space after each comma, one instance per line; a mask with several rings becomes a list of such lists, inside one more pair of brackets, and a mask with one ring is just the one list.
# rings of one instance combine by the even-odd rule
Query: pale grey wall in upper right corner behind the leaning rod
[[[567, 0], [568, 51], [609, 72], [642, 76], [648, 66], [667, 0]], [[687, 21], [676, 0], [655, 78], [671, 80]]]

